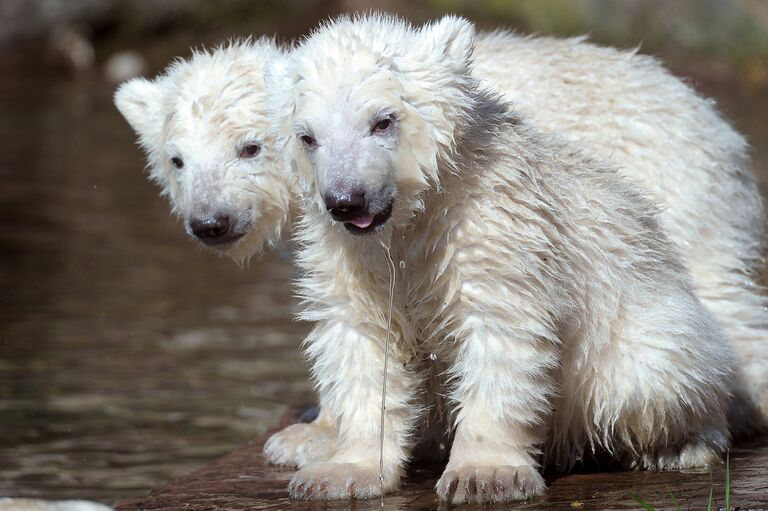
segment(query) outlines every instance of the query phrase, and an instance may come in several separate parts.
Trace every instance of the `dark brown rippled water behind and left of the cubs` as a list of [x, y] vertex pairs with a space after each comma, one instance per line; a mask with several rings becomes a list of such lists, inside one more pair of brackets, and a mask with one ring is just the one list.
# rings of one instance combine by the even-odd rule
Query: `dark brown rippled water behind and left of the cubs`
[[[0, 496], [144, 494], [312, 400], [290, 263], [185, 239], [112, 90], [0, 80]], [[719, 95], [768, 169], [768, 99]]]

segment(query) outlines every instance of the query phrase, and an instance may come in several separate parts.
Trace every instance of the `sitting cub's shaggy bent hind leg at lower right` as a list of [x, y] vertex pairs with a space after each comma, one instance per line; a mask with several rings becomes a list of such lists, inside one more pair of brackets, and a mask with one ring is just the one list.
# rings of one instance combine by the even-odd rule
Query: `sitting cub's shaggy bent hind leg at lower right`
[[[609, 344], [596, 349], [594, 372], [565, 373], [573, 381], [566, 378], [564, 388], [586, 390], [571, 397], [585, 400], [578, 407], [564, 408], [583, 406], [586, 436], [628, 468], [707, 467], [728, 447], [727, 341], [698, 299], [673, 285], [670, 279], [666, 290], [657, 285], [624, 302]], [[575, 423], [558, 419], [556, 441]]]

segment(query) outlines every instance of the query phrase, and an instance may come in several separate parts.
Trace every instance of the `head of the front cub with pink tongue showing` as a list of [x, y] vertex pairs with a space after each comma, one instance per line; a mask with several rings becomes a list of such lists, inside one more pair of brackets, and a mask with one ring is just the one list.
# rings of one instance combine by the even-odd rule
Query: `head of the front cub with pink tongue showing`
[[342, 17], [267, 69], [289, 166], [310, 200], [354, 234], [400, 225], [439, 187], [471, 111], [474, 27], [445, 17]]

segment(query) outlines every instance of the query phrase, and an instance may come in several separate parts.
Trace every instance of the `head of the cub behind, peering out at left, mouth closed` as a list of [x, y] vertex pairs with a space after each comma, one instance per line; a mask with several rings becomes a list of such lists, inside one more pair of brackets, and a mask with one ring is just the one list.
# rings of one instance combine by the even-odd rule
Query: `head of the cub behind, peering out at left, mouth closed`
[[279, 242], [295, 185], [267, 118], [271, 40], [196, 52], [155, 80], [120, 86], [115, 104], [139, 136], [152, 180], [187, 233], [237, 261]]

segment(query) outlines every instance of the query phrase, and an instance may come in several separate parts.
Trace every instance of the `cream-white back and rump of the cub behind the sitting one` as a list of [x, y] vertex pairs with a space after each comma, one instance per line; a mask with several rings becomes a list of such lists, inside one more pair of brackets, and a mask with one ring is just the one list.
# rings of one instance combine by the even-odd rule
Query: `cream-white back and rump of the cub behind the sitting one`
[[616, 162], [659, 206], [737, 356], [732, 430], [768, 425], [768, 304], [756, 282], [765, 215], [744, 138], [655, 59], [584, 38], [488, 34], [474, 67], [537, 128]]

